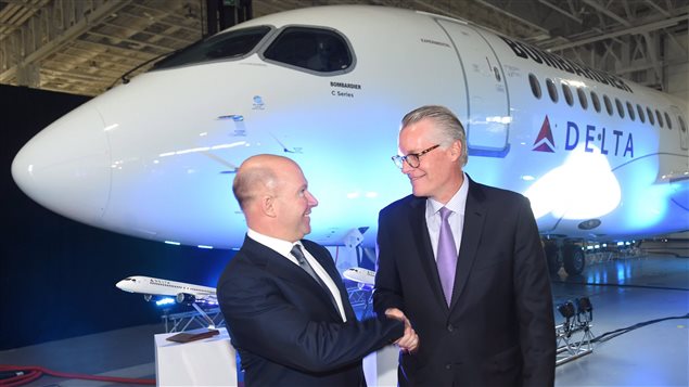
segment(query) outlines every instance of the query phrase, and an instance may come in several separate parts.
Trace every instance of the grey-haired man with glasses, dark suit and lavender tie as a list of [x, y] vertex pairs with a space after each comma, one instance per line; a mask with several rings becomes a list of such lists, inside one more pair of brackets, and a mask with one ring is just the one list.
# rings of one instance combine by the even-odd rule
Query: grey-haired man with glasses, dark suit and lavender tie
[[401, 386], [552, 386], [556, 335], [528, 199], [462, 171], [467, 140], [446, 107], [407, 114], [393, 160], [412, 195], [380, 212], [374, 308], [411, 321]]

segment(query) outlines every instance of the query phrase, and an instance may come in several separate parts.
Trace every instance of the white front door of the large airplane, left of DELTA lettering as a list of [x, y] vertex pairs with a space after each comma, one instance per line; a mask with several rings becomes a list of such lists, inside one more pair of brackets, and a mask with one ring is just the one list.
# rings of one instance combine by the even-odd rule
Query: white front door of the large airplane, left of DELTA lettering
[[472, 27], [438, 20], [455, 43], [469, 95], [467, 130], [470, 155], [505, 157], [509, 152], [509, 98], [505, 75], [493, 48]]

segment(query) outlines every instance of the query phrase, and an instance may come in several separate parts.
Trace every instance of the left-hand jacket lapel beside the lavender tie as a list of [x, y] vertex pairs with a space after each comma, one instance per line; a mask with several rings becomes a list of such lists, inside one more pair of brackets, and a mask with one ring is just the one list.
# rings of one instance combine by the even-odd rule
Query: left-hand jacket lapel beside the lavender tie
[[431, 244], [429, 228], [425, 221], [425, 197], [413, 197], [411, 199], [409, 227], [411, 228], [411, 234], [414, 236], [414, 244], [418, 251], [417, 256], [421, 259], [421, 266], [435, 294], [435, 299], [442, 302], [445, 310], [447, 310], [443, 285], [441, 284], [441, 276], [437, 273], [437, 265], [435, 262], [435, 255], [433, 254], [433, 245]]

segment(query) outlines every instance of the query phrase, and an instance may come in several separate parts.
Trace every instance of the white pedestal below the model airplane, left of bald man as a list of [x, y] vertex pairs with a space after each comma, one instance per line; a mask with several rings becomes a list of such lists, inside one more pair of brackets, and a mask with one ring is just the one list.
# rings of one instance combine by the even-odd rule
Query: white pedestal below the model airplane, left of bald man
[[184, 344], [166, 340], [177, 333], [155, 335], [157, 385], [237, 386], [237, 352], [227, 330], [218, 331], [217, 336]]

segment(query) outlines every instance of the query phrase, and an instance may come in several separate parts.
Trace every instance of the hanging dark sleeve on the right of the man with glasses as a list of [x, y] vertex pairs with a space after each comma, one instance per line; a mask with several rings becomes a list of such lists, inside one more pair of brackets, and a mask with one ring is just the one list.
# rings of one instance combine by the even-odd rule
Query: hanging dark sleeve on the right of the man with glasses
[[524, 358], [523, 386], [552, 386], [556, 333], [550, 276], [538, 227], [526, 198], [521, 202], [513, 254], [516, 313]]

